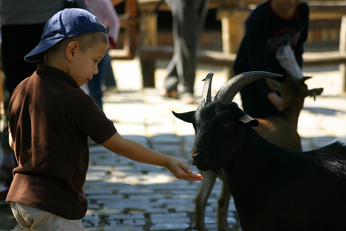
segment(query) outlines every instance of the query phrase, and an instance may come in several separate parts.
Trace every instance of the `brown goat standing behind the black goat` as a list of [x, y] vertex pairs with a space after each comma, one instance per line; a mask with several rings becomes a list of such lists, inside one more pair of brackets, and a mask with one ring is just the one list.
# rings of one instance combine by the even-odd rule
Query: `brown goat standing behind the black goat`
[[[303, 108], [304, 98], [306, 96], [315, 97], [323, 91], [323, 88], [308, 90], [304, 81], [309, 78], [311, 77], [303, 77], [299, 81], [286, 78], [282, 84], [273, 79], [266, 79], [272, 89], [281, 93], [284, 109], [280, 113], [266, 119], [257, 118], [259, 126], [253, 128], [259, 135], [278, 146], [302, 150], [301, 138], [297, 133], [297, 125], [299, 114]], [[222, 189], [217, 200], [217, 230], [228, 231], [227, 211], [231, 197], [229, 188], [223, 177], [216, 176], [211, 171], [200, 172], [204, 180], [195, 197], [194, 226], [199, 231], [206, 231], [204, 224], [205, 208], [216, 177], [219, 177], [222, 180]]]

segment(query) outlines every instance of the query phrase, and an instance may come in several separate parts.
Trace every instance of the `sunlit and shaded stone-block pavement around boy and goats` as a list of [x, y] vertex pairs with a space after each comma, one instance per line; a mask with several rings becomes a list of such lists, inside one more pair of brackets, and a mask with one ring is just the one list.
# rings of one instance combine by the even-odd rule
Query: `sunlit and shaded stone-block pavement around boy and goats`
[[[157, 88], [142, 90], [138, 60], [114, 60], [119, 92], [105, 92], [104, 111], [122, 136], [179, 157], [197, 172], [189, 160], [194, 130], [191, 124], [176, 119], [171, 112], [195, 110], [197, 104], [183, 104], [160, 96], [166, 65], [166, 62], [159, 63], [161, 68], [155, 73]], [[213, 96], [226, 82], [222, 68], [200, 66], [196, 95], [201, 95], [201, 80], [211, 71], [215, 72]], [[340, 91], [337, 67], [311, 68], [304, 73], [313, 76], [306, 81], [309, 88], [325, 89], [316, 101], [305, 99], [299, 119], [303, 149], [310, 150], [346, 135], [346, 97]], [[239, 94], [234, 101], [241, 105]], [[89, 206], [83, 224], [87, 231], [191, 231], [193, 200], [199, 185], [199, 182], [176, 180], [164, 168], [133, 162], [102, 146], [91, 146], [85, 184]], [[216, 230], [220, 188], [221, 182], [217, 181], [206, 208], [206, 226], [210, 231]], [[10, 210], [9, 206], [0, 208], [1, 212], [4, 210]], [[10, 215], [6, 219], [0, 223], [13, 221]], [[231, 230], [240, 230], [232, 199], [228, 224]], [[17, 225], [7, 230], [21, 228]]]

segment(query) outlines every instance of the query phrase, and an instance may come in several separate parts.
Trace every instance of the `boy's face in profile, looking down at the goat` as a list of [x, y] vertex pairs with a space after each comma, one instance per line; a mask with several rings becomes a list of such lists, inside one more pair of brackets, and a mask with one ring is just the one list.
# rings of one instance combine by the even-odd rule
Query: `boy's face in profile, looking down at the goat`
[[69, 75], [76, 81], [78, 86], [88, 83], [93, 75], [98, 73], [97, 64], [107, 51], [106, 43], [98, 43], [85, 50], [75, 50], [73, 68], [69, 70]]

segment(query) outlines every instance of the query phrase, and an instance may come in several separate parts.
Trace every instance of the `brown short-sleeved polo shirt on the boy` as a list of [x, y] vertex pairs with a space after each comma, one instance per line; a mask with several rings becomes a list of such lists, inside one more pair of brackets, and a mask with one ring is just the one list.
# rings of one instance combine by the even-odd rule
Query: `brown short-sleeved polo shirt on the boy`
[[19, 166], [6, 201], [82, 219], [87, 136], [103, 143], [116, 133], [113, 122], [67, 73], [39, 65], [12, 94], [9, 129]]

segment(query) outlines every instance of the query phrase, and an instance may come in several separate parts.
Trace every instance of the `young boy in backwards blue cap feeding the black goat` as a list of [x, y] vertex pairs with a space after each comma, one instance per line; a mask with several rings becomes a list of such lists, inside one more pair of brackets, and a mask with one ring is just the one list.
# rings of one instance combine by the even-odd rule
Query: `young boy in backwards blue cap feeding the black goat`
[[21, 82], [9, 105], [9, 142], [19, 166], [6, 201], [25, 230], [84, 230], [89, 136], [134, 161], [166, 167], [176, 178], [202, 180], [180, 159], [117, 133], [80, 86], [97, 74], [108, 47], [105, 26], [83, 9], [65, 9], [45, 24], [25, 56], [43, 65]]

